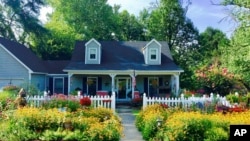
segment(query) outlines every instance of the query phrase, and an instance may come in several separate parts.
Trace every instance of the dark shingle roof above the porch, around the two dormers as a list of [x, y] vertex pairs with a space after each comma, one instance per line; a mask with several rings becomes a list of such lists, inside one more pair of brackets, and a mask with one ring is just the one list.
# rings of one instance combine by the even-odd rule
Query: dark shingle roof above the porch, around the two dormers
[[142, 53], [148, 41], [99, 41], [102, 49], [101, 64], [85, 64], [85, 43], [77, 41], [67, 70], [163, 70], [182, 71], [172, 60], [167, 42], [162, 45], [161, 65], [147, 65]]

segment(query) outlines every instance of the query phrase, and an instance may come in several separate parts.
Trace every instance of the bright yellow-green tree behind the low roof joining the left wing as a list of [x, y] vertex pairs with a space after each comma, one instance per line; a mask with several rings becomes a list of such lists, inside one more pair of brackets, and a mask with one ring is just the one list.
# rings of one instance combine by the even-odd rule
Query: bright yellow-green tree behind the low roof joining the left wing
[[32, 50], [44, 60], [69, 60], [75, 41], [82, 35], [70, 27], [55, 11], [45, 24], [47, 34], [39, 38], [31, 36]]

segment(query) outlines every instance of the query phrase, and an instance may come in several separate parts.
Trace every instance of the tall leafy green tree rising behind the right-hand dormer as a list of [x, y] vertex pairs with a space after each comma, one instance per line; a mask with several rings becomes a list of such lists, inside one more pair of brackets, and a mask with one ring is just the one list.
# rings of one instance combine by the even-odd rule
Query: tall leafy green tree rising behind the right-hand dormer
[[182, 4], [182, 1], [179, 0], [160, 0], [159, 4], [155, 4], [156, 8], [145, 21], [148, 30], [147, 36], [167, 41], [171, 50], [177, 46], [180, 47], [178, 38], [184, 37], [182, 36], [184, 34], [193, 33], [186, 34], [189, 30], [187, 27], [196, 30], [194, 27], [188, 26], [191, 21], [186, 18], [187, 7], [183, 8]]

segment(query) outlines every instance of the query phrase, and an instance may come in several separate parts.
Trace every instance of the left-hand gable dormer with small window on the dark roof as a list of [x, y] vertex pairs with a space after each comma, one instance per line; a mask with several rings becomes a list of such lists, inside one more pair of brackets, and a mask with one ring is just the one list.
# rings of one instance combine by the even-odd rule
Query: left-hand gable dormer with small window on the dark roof
[[85, 44], [85, 64], [101, 63], [101, 44], [95, 39], [89, 40]]

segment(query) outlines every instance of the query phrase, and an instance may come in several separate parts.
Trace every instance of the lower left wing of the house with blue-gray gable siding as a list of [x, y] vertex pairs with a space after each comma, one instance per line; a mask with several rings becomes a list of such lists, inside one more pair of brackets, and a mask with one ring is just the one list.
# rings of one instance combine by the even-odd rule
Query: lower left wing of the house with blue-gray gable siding
[[24, 45], [0, 37], [0, 90], [7, 85], [25, 89], [32, 85], [40, 91], [67, 93], [68, 75], [62, 70], [68, 63], [43, 61]]

